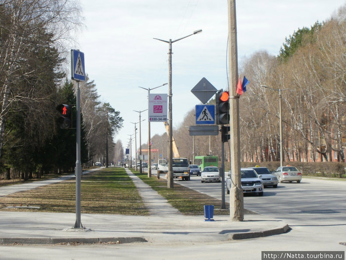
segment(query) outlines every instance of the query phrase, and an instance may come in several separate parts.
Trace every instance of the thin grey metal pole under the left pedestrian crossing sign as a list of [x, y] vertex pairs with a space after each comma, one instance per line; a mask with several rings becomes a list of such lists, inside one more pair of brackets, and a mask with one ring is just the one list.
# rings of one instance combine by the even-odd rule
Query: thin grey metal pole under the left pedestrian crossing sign
[[79, 88], [79, 81], [77, 81], [77, 137], [76, 137], [76, 223], [74, 228], [83, 228], [81, 222], [81, 176], [82, 176], [82, 164], [81, 164], [81, 90]]

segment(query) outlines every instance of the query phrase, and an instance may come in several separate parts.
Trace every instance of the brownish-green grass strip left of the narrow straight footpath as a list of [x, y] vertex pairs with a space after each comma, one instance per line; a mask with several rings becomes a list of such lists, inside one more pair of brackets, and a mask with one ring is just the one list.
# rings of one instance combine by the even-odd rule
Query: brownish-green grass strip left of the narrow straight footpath
[[[6, 207], [40, 207], [13, 208]], [[1, 210], [76, 212], [74, 179], [18, 192], [0, 198]], [[81, 212], [93, 214], [148, 215], [148, 210], [124, 168], [104, 168], [81, 181]]]

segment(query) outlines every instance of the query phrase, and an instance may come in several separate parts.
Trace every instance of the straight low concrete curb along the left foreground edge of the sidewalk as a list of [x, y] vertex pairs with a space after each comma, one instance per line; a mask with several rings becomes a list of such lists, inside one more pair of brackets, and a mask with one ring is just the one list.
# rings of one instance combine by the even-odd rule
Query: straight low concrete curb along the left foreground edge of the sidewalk
[[55, 245], [62, 243], [84, 243], [84, 244], [99, 244], [99, 243], [135, 243], [148, 242], [144, 237], [101, 237], [101, 238], [81, 238], [81, 237], [13, 237], [0, 238], [1, 245], [8, 244], [26, 244], [26, 245]]

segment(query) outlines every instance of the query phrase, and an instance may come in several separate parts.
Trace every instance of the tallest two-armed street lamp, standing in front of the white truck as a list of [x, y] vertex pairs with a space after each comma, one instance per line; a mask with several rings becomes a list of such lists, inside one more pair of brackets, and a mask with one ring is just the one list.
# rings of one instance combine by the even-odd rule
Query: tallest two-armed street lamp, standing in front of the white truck
[[200, 30], [197, 30], [197, 31], [194, 31], [192, 34], [189, 34], [187, 36], [184, 36], [184, 37], [181, 37], [179, 39], [176, 39], [174, 41], [172, 41], [172, 39], [170, 39], [169, 41], [165, 41], [165, 40], [161, 40], [161, 39], [158, 39], [158, 38], [154, 38], [155, 40], [159, 40], [161, 42], [165, 42], [165, 43], [168, 43], [169, 44], [169, 51], [168, 51], [168, 63], [169, 63], [169, 68], [168, 68], [168, 73], [169, 73], [169, 94], [168, 94], [168, 97], [169, 97], [169, 115], [168, 115], [168, 123], [169, 123], [169, 158], [168, 158], [168, 173], [167, 173], [167, 186], [168, 188], [173, 188], [173, 165], [172, 165], [172, 162], [173, 162], [173, 123], [172, 123], [172, 44], [177, 42], [177, 41], [180, 41], [184, 38], [187, 38], [191, 35], [194, 35], [194, 34], [198, 34], [198, 33], [201, 33], [202, 32], [202, 29]]

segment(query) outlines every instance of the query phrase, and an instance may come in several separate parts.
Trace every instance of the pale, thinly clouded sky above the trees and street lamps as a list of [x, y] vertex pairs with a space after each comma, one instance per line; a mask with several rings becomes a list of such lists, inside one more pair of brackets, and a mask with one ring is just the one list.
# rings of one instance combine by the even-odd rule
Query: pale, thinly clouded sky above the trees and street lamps
[[[205, 77], [216, 89], [227, 89], [227, 0], [80, 0], [84, 28], [76, 45], [85, 54], [85, 69], [94, 80], [100, 101], [110, 103], [124, 119], [114, 136], [124, 148], [134, 139], [134, 124], [148, 108], [143, 88], [168, 83], [169, 44], [172, 45], [173, 129], [202, 104], [191, 89]], [[285, 38], [316, 21], [329, 19], [346, 0], [236, 1], [238, 64], [258, 51], [277, 55]], [[251, 83], [248, 88], [251, 87]], [[168, 85], [150, 93], [168, 94]], [[148, 113], [141, 112], [141, 140], [148, 142]], [[137, 124], [138, 128], [138, 124]], [[153, 122], [151, 136], [165, 133]], [[174, 130], [173, 130], [174, 136]], [[139, 131], [137, 130], [137, 148]], [[132, 145], [134, 151], [134, 142]]]

